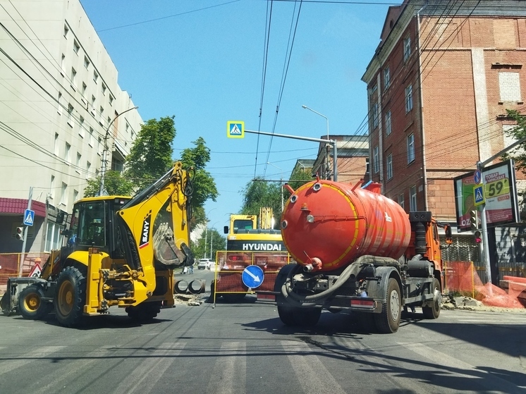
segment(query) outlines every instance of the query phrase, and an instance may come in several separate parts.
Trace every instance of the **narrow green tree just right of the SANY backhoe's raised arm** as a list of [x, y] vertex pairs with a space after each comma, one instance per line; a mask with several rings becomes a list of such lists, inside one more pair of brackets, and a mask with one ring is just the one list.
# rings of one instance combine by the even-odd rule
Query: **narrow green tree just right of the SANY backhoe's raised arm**
[[208, 199], [216, 201], [219, 192], [217, 192], [216, 183], [212, 175], [205, 169], [210, 161], [210, 149], [206, 146], [203, 137], [198, 137], [192, 141], [195, 145], [193, 148], [183, 149], [181, 152], [181, 162], [183, 168], [192, 169], [193, 193], [192, 193], [192, 219], [190, 220], [190, 230], [200, 223], [206, 223], [203, 205]]

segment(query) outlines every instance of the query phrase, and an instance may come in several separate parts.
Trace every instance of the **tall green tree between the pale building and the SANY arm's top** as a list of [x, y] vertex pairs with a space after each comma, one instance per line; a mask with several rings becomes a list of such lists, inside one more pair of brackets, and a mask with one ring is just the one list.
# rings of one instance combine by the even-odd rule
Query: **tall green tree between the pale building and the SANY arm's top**
[[171, 168], [172, 142], [176, 137], [173, 118], [150, 119], [141, 126], [126, 157], [126, 178], [136, 190], [144, 189]]

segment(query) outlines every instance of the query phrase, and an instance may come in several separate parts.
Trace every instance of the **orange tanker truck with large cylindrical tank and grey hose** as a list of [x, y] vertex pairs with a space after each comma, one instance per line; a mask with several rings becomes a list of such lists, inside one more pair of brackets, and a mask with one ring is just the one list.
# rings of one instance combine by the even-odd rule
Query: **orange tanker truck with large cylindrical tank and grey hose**
[[283, 266], [274, 286], [283, 324], [314, 326], [322, 309], [351, 310], [368, 331], [394, 333], [402, 309], [440, 314], [442, 260], [439, 227], [429, 211], [405, 213], [362, 187], [313, 180], [293, 190], [281, 216], [281, 234], [298, 264]]

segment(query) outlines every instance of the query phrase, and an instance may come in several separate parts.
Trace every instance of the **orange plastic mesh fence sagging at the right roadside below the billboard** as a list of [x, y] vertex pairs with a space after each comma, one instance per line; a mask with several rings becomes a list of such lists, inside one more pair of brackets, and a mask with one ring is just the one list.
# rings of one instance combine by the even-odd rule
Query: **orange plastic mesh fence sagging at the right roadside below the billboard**
[[508, 292], [491, 283], [482, 283], [472, 261], [447, 261], [444, 264], [445, 288], [475, 298], [491, 307], [523, 308], [518, 297], [524, 286], [510, 283]]

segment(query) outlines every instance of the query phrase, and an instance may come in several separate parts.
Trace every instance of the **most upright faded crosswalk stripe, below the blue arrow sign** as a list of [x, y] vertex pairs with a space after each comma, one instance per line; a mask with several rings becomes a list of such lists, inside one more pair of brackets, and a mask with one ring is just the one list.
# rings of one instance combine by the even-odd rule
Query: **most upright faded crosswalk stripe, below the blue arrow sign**
[[221, 345], [206, 393], [245, 394], [247, 392], [247, 350], [241, 342]]

